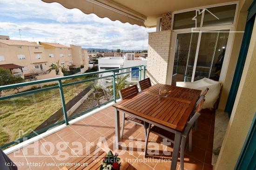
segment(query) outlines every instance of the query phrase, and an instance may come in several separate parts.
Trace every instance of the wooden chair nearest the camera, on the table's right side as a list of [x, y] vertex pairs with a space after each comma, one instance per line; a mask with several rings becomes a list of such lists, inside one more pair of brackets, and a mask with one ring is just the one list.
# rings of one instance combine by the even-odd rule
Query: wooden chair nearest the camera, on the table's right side
[[[194, 116], [189, 120], [189, 122], [187, 123], [187, 126], [185, 127], [184, 132], [182, 133], [182, 141], [181, 141], [181, 170], [184, 170], [184, 152], [185, 152], [185, 144], [186, 144], [186, 140], [187, 137], [189, 136], [189, 138], [191, 138], [191, 145], [192, 145], [192, 127], [195, 123], [195, 121], [198, 119], [198, 117], [200, 116], [200, 113], [198, 113], [201, 109], [202, 109], [202, 105], [204, 102], [204, 97], [202, 97], [201, 101], [198, 103], [197, 107], [195, 108], [195, 114]], [[169, 132], [165, 129], [162, 129], [160, 127], [157, 126], [153, 126], [151, 128], [151, 124], [149, 124], [149, 128], [148, 128], [148, 135], [147, 138], [145, 140], [145, 156], [148, 154], [147, 150], [148, 150], [148, 136], [149, 133], [155, 133], [156, 135], [167, 139], [169, 142], [174, 143], [174, 139], [175, 139], [175, 134], [172, 132]], [[189, 144], [190, 145], [190, 144]]]

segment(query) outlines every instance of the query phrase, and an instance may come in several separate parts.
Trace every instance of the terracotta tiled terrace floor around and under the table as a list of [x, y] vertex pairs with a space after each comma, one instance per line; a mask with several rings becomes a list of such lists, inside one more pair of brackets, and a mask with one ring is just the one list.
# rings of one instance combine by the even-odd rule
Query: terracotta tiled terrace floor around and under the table
[[[108, 107], [8, 156], [15, 163], [23, 163], [18, 170], [58, 170], [63, 166], [60, 163], [72, 163], [75, 157], [84, 157], [86, 147], [98, 144], [100, 147], [118, 152], [122, 161], [126, 160], [137, 170], [170, 169], [171, 156], [165, 153], [172, 151], [172, 146], [161, 144], [162, 139], [150, 133], [148, 153], [157, 151], [159, 153], [144, 158], [144, 129], [131, 122], [125, 124], [121, 150], [115, 150], [114, 119], [114, 107]], [[215, 112], [202, 110], [198, 131], [193, 132], [192, 152], [188, 151], [188, 145], [185, 151], [186, 170], [212, 170], [214, 123]], [[153, 150], [152, 147], [158, 149]], [[39, 150], [35, 151], [35, 148]], [[177, 169], [179, 169], [179, 161]]]

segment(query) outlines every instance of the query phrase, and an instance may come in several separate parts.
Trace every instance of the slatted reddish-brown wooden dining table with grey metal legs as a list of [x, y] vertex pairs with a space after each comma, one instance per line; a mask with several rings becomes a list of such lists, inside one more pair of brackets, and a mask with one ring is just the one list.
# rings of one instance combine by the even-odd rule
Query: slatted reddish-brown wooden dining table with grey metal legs
[[[159, 96], [159, 88], [169, 90], [168, 97]], [[119, 111], [140, 120], [175, 133], [171, 170], [176, 169], [181, 135], [199, 99], [201, 90], [181, 88], [165, 84], [155, 84], [138, 94], [132, 95], [113, 105], [115, 111], [116, 147], [120, 149]]]

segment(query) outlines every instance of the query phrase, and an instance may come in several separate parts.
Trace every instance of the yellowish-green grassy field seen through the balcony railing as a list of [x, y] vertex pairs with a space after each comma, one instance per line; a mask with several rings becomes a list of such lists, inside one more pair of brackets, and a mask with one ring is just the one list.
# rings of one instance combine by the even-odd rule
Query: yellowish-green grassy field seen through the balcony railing
[[[67, 80], [65, 83], [79, 80], [81, 78]], [[92, 83], [63, 88], [66, 103]], [[0, 146], [19, 138], [20, 130], [25, 132], [21, 133], [22, 136], [29, 134], [29, 129], [35, 129], [60, 108], [59, 89], [0, 101]]]

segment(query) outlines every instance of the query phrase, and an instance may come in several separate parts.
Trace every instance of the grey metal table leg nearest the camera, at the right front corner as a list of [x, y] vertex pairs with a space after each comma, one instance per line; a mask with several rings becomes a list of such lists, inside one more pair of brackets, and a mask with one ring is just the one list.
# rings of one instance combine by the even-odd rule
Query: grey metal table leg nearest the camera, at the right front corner
[[171, 170], [176, 170], [177, 159], [178, 159], [178, 156], [179, 156], [180, 145], [181, 145], [181, 139], [182, 139], [182, 133], [181, 132], [175, 132]]

